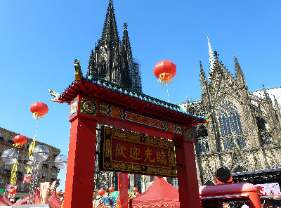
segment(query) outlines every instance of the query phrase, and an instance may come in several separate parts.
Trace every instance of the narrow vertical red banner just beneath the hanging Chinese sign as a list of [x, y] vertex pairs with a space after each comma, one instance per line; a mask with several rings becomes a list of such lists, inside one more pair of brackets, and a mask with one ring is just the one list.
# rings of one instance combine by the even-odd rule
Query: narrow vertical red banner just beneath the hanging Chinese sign
[[129, 176], [128, 174], [118, 173], [118, 193], [121, 208], [129, 207]]

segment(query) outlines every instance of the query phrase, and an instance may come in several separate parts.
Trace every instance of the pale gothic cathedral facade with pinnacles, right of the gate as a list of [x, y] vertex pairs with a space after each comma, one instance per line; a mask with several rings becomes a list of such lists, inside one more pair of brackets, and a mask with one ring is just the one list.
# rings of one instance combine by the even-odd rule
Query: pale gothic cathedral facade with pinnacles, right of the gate
[[217, 167], [232, 173], [273, 169], [281, 166], [281, 115], [277, 99], [250, 93], [242, 68], [235, 60], [235, 77], [218, 60], [209, 44], [207, 78], [200, 62], [202, 100], [185, 102], [193, 115], [205, 115], [207, 124], [196, 127], [195, 144], [199, 185], [215, 183]]

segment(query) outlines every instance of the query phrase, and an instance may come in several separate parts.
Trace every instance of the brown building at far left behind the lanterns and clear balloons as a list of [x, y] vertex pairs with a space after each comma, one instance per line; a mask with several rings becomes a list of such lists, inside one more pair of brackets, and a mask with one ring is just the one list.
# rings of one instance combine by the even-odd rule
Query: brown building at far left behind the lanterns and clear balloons
[[[5, 150], [15, 148], [13, 146], [13, 138], [18, 134], [13, 131], [8, 131], [0, 127], [0, 154], [2, 154]], [[22, 148], [17, 148], [20, 152], [20, 158], [27, 159], [28, 158], [28, 148], [30, 143], [32, 142], [32, 138], [27, 138], [27, 143], [22, 146]], [[60, 154], [60, 149], [55, 148], [46, 143], [40, 143], [36, 141], [35, 146], [37, 145], [46, 145], [48, 150], [50, 151], [50, 156], [48, 157], [49, 161], [55, 160], [55, 157]], [[26, 173], [26, 164], [22, 161], [18, 162], [18, 171], [17, 171], [17, 180], [18, 184], [18, 192], [17, 197], [25, 197], [28, 194], [29, 185], [22, 184], [23, 176]], [[0, 188], [5, 188], [6, 183], [10, 183], [11, 179], [11, 170], [13, 169], [13, 164], [4, 164], [2, 160], [0, 160]], [[46, 162], [41, 165], [39, 169], [39, 182], [45, 181], [55, 181], [57, 180], [59, 169], [55, 167], [50, 162]], [[57, 186], [59, 182], [57, 181]]]

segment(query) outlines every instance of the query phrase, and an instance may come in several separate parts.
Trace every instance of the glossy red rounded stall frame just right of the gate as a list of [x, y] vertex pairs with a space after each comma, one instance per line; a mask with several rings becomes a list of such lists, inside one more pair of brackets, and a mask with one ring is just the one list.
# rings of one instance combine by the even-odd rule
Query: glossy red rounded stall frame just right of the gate
[[[214, 186], [201, 186], [199, 189], [202, 204], [218, 207], [218, 201], [248, 200], [250, 208], [261, 208], [256, 186], [251, 183], [225, 183]], [[200, 204], [200, 207], [204, 207]]]

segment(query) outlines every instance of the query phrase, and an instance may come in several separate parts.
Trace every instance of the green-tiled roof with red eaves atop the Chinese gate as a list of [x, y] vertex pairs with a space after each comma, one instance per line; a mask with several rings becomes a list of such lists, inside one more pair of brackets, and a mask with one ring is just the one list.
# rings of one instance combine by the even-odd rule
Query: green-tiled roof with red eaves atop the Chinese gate
[[146, 96], [142, 93], [136, 93], [124, 88], [112, 87], [115, 84], [93, 83], [89, 79], [74, 81], [58, 98], [59, 103], [68, 103], [76, 98], [78, 94], [98, 98], [107, 103], [114, 103], [122, 106], [126, 110], [135, 110], [140, 113], [150, 114], [162, 119], [168, 119], [178, 123], [187, 123], [192, 125], [206, 123], [205, 117], [190, 115], [180, 112], [178, 105], [166, 103], [162, 100]]

